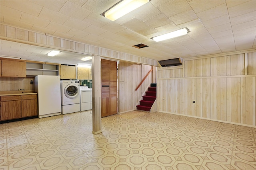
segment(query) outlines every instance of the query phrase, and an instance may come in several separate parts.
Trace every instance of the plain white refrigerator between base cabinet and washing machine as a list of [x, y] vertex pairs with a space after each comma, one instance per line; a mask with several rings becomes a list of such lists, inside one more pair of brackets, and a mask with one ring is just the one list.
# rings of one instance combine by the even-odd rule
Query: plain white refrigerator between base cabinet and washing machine
[[35, 92], [39, 118], [61, 114], [60, 76], [36, 76]]

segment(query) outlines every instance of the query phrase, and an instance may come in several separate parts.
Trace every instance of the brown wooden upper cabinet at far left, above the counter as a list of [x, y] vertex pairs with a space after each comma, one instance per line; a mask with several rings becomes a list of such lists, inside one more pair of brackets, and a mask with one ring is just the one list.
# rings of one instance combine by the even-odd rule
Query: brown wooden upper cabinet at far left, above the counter
[[2, 77], [26, 77], [26, 62], [2, 59]]

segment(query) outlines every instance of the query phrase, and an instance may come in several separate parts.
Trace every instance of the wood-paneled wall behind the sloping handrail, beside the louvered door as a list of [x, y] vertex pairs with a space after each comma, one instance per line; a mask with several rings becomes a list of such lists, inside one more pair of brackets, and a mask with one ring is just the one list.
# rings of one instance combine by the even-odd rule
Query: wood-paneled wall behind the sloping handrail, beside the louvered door
[[120, 62], [118, 65], [118, 112], [124, 113], [136, 109], [136, 105], [153, 82], [152, 72], [135, 91], [141, 80], [148, 74], [152, 66]]

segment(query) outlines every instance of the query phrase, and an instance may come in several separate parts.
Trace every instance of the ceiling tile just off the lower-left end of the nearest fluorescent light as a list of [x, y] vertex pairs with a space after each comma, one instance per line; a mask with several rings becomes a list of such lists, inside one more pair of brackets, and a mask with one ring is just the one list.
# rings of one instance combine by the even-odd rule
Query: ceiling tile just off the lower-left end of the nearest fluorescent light
[[97, 27], [102, 27], [103, 25], [106, 25], [107, 23], [111, 22], [111, 20], [108, 20], [104, 16], [95, 13], [90, 14], [83, 21], [95, 25]]

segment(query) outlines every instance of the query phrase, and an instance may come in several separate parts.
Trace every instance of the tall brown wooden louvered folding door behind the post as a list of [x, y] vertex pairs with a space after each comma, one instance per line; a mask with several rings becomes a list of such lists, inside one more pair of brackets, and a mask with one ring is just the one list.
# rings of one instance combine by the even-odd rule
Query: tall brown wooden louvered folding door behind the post
[[101, 60], [101, 117], [117, 113], [116, 62]]

